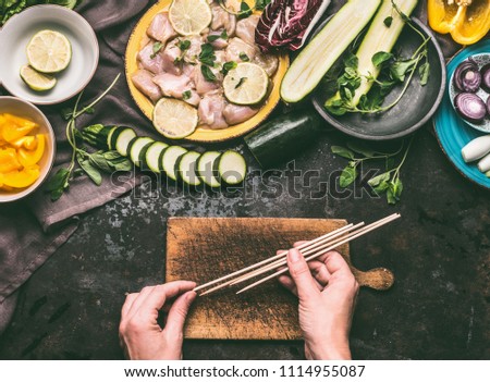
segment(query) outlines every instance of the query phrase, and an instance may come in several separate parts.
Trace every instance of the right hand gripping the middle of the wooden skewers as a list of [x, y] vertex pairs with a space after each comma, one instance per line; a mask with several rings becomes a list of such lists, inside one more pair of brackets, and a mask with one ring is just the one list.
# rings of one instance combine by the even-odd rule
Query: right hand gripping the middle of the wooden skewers
[[306, 358], [351, 359], [348, 333], [359, 285], [343, 257], [329, 251], [307, 263], [290, 249], [287, 267], [291, 276], [279, 281], [299, 298]]

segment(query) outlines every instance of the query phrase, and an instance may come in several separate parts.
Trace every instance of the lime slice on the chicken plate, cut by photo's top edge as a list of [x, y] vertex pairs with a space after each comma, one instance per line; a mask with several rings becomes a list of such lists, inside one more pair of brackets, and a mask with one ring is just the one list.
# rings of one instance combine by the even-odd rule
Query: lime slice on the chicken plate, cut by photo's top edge
[[173, 0], [169, 20], [180, 35], [199, 35], [211, 24], [212, 13], [206, 0]]

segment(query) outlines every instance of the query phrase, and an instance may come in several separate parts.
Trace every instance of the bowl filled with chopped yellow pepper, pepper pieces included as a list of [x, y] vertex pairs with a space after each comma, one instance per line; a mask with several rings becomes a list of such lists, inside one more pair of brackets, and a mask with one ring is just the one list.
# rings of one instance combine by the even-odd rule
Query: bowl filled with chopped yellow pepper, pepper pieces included
[[34, 104], [0, 97], [0, 202], [34, 193], [51, 171], [54, 133]]

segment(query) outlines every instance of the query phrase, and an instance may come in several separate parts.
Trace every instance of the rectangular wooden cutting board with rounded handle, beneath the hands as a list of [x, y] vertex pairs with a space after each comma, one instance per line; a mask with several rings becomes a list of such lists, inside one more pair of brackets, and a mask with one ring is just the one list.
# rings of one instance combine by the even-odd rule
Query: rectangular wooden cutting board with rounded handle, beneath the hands
[[[218, 279], [344, 226], [344, 220], [266, 218], [171, 218], [167, 226], [167, 282]], [[339, 249], [351, 264], [348, 245]], [[387, 289], [387, 269], [362, 272], [351, 266], [363, 286]], [[241, 285], [238, 285], [241, 286]], [[186, 338], [299, 340], [297, 299], [277, 281], [235, 295], [224, 288], [198, 297], [187, 318]]]

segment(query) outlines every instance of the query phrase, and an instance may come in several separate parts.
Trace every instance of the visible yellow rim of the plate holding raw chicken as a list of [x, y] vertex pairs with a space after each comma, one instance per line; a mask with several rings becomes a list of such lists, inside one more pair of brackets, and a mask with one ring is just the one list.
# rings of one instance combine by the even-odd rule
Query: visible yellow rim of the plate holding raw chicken
[[[139, 109], [145, 113], [145, 115], [151, 120], [152, 111], [154, 111], [154, 104], [151, 101], [136, 87], [133, 85], [133, 82], [131, 81], [131, 75], [137, 71], [138, 64], [137, 64], [137, 53], [140, 50], [140, 44], [146, 38], [146, 30], [148, 29], [148, 26], [150, 25], [151, 21], [154, 20], [155, 15], [157, 13], [160, 13], [162, 11], [167, 11], [171, 0], [161, 0], [154, 7], [151, 7], [139, 20], [139, 22], [136, 24], [136, 27], [134, 28], [130, 41], [127, 42], [126, 48], [126, 81], [127, 86], [130, 87], [131, 96], [135, 100], [136, 104]], [[279, 88], [281, 85], [281, 81], [284, 77], [284, 74], [287, 70], [287, 66], [290, 64], [290, 60], [287, 54], [283, 54], [279, 59], [279, 67], [275, 72], [274, 76], [272, 77], [272, 89], [270, 93], [269, 98], [267, 99], [266, 103], [262, 106], [260, 111], [255, 114], [252, 119], [249, 119], [246, 122], [243, 122], [238, 125], [234, 125], [224, 130], [208, 130], [208, 128], [201, 128], [197, 127], [196, 132], [185, 139], [193, 140], [193, 141], [203, 141], [203, 143], [211, 143], [211, 141], [223, 141], [232, 138], [240, 137], [250, 131], [253, 131], [255, 127], [257, 127], [261, 122], [264, 122], [269, 114], [272, 112], [272, 110], [275, 108], [275, 106], [279, 102], [280, 95], [279, 95]]]

